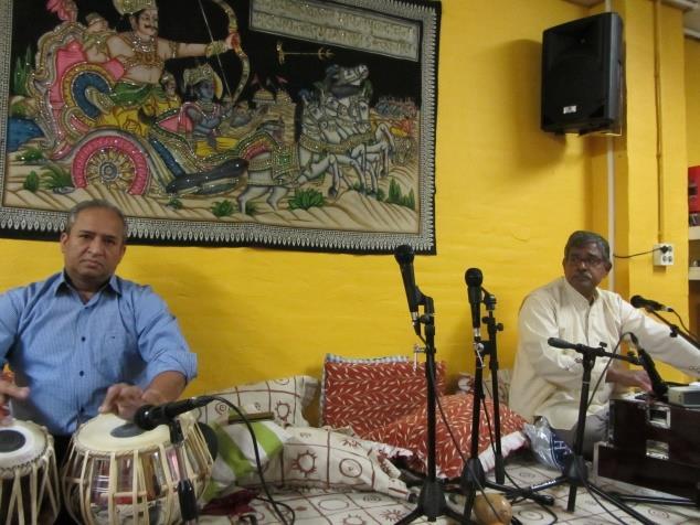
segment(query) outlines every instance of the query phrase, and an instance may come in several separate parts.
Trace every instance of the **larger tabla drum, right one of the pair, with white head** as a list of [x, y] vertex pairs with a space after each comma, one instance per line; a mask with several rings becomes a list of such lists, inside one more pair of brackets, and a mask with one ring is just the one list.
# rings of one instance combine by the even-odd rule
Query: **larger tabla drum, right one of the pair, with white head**
[[[185, 471], [197, 497], [212, 470], [212, 457], [194, 418], [180, 416]], [[179, 523], [178, 451], [168, 426], [145, 431], [114, 414], [82, 425], [71, 439], [62, 469], [63, 497], [79, 523]]]

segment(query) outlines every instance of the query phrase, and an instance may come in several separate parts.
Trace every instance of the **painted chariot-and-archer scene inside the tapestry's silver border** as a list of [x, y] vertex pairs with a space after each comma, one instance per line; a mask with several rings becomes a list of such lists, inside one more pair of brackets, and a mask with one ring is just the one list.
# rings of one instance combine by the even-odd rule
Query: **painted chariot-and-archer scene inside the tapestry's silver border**
[[420, 229], [420, 62], [255, 31], [254, 2], [14, 2], [3, 205]]

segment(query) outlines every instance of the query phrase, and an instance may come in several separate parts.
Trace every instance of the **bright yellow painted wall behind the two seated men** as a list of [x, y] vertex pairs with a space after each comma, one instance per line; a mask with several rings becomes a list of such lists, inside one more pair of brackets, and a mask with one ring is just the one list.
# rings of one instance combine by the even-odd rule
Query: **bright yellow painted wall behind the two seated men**
[[[623, 137], [606, 139], [539, 129], [542, 31], [595, 11], [563, 0], [443, 1], [438, 254], [416, 257], [415, 272], [421, 290], [435, 300], [437, 357], [448, 362], [453, 378], [473, 369], [475, 361], [465, 270], [480, 268], [484, 286], [498, 298], [495, 313], [505, 324], [500, 364], [511, 366], [520, 301], [561, 274], [566, 236], [577, 228], [607, 234], [608, 144], [618, 173], [622, 251], [648, 250], [657, 240], [654, 4], [626, 0], [615, 8], [626, 22], [633, 115]], [[681, 196], [685, 203], [686, 191], [682, 28], [679, 11], [660, 11], [668, 142], [662, 234], [682, 260], [686, 217], [675, 204]], [[61, 267], [52, 243], [0, 239], [0, 289]], [[616, 288], [674, 306], [685, 302], [685, 265], [658, 271], [650, 260], [621, 264]], [[320, 377], [327, 352], [409, 355], [416, 342], [391, 255], [131, 246], [119, 272], [151, 283], [180, 319], [200, 356], [200, 377], [189, 394], [291, 374]]]

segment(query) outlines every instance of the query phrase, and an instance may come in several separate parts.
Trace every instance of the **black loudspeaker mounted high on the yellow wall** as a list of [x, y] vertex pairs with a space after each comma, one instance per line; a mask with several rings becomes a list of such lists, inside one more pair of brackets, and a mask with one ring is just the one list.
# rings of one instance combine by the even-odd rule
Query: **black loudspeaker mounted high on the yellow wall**
[[541, 128], [615, 131], [623, 106], [623, 21], [605, 12], [542, 33]]

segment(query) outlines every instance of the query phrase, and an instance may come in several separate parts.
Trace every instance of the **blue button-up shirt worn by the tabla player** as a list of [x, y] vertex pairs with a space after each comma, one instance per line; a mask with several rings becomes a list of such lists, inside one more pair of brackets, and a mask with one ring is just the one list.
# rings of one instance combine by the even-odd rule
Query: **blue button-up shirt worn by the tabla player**
[[83, 303], [56, 274], [0, 296], [0, 356], [26, 400], [12, 400], [14, 417], [70, 435], [95, 417], [116, 383], [145, 388], [161, 372], [191, 381], [197, 356], [150, 287], [113, 276]]

